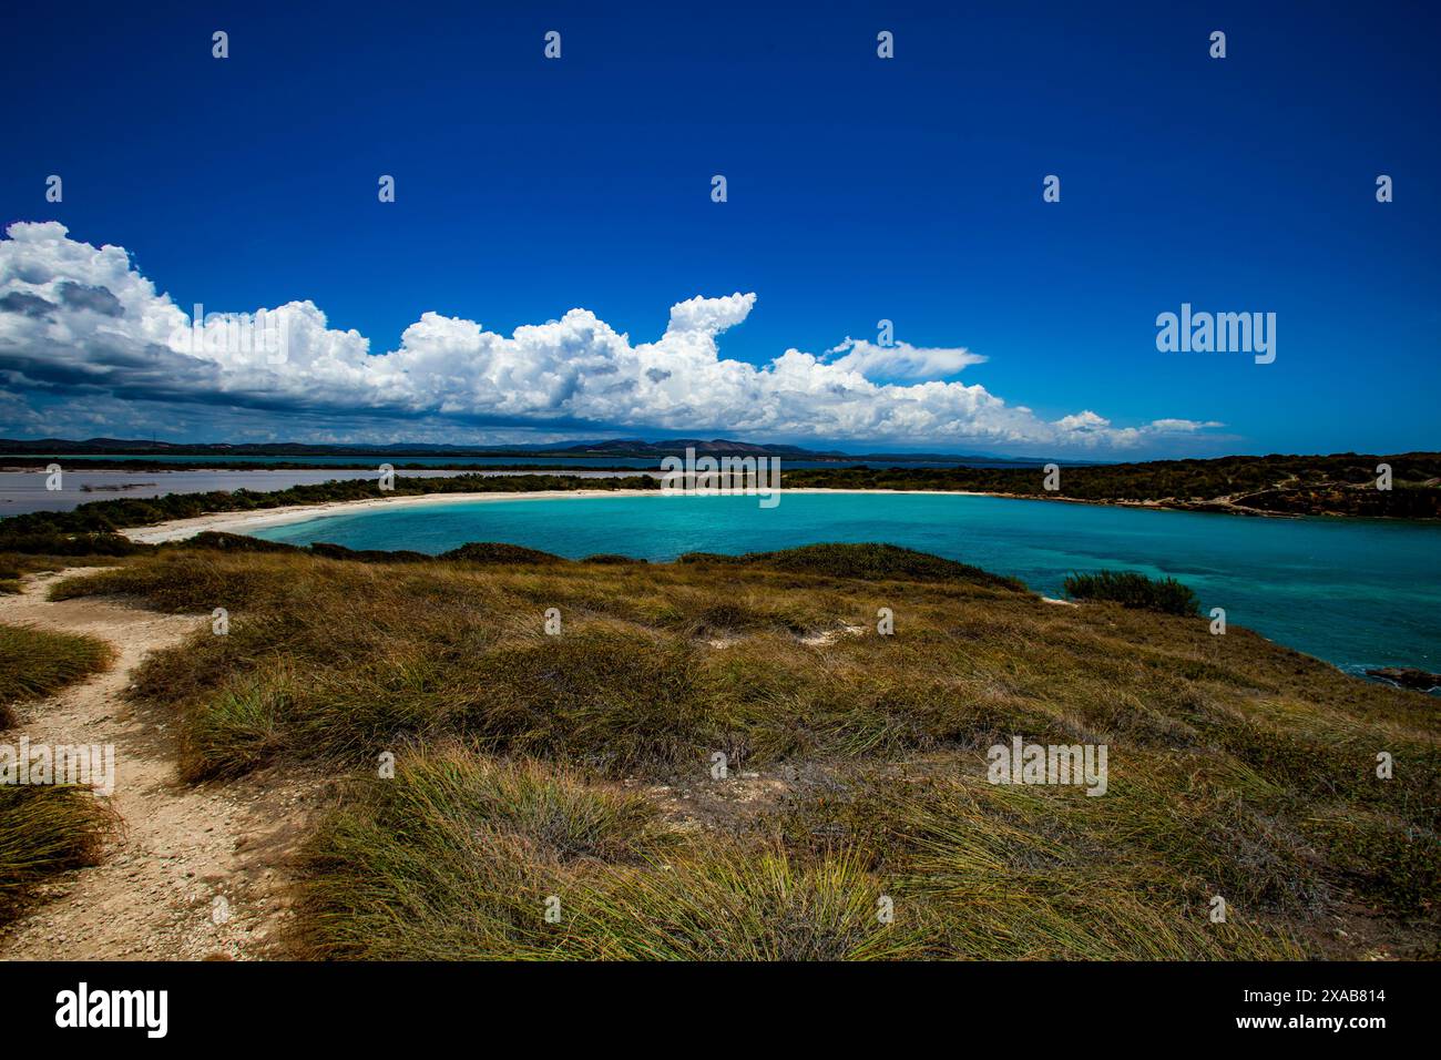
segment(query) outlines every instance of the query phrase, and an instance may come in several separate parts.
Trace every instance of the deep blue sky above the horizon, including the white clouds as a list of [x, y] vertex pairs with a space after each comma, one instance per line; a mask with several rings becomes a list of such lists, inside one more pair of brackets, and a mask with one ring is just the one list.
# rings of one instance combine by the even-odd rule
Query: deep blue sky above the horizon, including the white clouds
[[[0, 313], [0, 434], [700, 433], [1107, 459], [1438, 447], [1434, 4], [144, 7], [7, 16], [0, 222], [68, 229], [27, 254], [122, 247], [184, 313], [310, 301], [372, 358], [424, 313], [507, 342], [563, 326], [536, 346], [414, 335], [393, 391], [370, 368], [343, 379], [357, 353], [340, 339], [340, 368], [134, 369], [153, 335], [121, 349], [94, 312], [73, 327], [63, 309]], [[552, 29], [559, 61], [542, 55]], [[1059, 203], [1042, 202], [1052, 173]], [[1376, 202], [1380, 173], [1395, 202]], [[13, 296], [61, 306], [58, 284], [118, 286], [95, 278], [114, 262], [46, 265], [46, 286], [19, 260], [0, 273]], [[638, 358], [566, 317], [588, 310], [638, 346], [673, 304], [732, 293], [754, 304]], [[148, 312], [115, 294], [111, 323]], [[1275, 313], [1275, 362], [1159, 352], [1156, 316], [1183, 301]], [[919, 374], [866, 345], [827, 356], [873, 343], [880, 319], [940, 353]], [[803, 366], [780, 392], [767, 374], [788, 349], [849, 353], [865, 382]], [[572, 352], [579, 381], [556, 382]], [[716, 356], [762, 372], [712, 371]], [[641, 379], [634, 399], [601, 395], [599, 376], [646, 365], [672, 372], [666, 394]], [[928, 381], [980, 394], [932, 398], [915, 389]]]

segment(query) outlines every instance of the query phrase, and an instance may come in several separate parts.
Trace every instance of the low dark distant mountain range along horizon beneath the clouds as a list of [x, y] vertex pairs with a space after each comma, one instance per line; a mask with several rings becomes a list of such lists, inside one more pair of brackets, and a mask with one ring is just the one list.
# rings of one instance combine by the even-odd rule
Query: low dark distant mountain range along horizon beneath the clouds
[[[0, 438], [0, 456], [130, 456], [135, 459], [163, 460], [167, 457], [206, 456], [251, 456], [295, 459], [307, 456], [434, 456], [434, 457], [506, 457], [506, 456], [558, 456], [558, 457], [666, 457], [684, 456], [687, 449], [706, 456], [775, 456], [791, 460], [895, 460], [909, 463], [974, 463], [1022, 464], [1043, 463], [1036, 459], [1003, 457], [957, 453], [843, 453], [840, 450], [814, 450], [801, 446], [764, 446], [728, 438], [666, 438], [644, 441], [643, 438], [607, 438], [605, 441], [559, 441], [543, 446], [316, 446], [310, 443], [170, 443], [138, 438]], [[1065, 461], [1062, 461], [1065, 463]]]

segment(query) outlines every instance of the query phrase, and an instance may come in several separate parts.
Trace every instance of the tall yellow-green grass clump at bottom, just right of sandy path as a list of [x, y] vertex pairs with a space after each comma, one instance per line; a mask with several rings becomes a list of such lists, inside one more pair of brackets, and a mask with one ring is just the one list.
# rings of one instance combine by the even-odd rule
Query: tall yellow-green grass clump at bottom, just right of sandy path
[[[365, 782], [304, 857], [305, 956], [546, 956], [545, 900], [607, 860], [659, 855], [666, 835], [640, 795], [535, 763], [461, 748], [399, 759]], [[568, 870], [569, 867], [569, 870]]]

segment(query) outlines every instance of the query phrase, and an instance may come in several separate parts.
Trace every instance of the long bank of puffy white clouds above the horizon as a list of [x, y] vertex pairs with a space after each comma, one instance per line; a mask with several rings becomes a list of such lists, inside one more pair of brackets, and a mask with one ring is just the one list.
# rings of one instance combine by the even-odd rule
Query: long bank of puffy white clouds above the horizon
[[[585, 309], [509, 337], [427, 312], [385, 353], [372, 353], [356, 330], [330, 327], [308, 300], [206, 313], [193, 329], [124, 248], [78, 242], [58, 222], [17, 222], [6, 235], [0, 424], [33, 427], [58, 408], [82, 405], [88, 411], [66, 421], [99, 428], [107, 408], [159, 402], [261, 410], [287, 421], [294, 414], [331, 423], [418, 417], [526, 434], [589, 425], [1084, 450], [1125, 450], [1222, 425], [1170, 417], [1117, 427], [1091, 410], [1045, 420], [978, 384], [944, 378], [984, 362], [963, 348], [847, 337], [818, 356], [787, 349], [761, 366], [726, 359], [718, 336], [749, 316], [754, 293], [680, 301], [664, 335], [643, 343]], [[281, 355], [259, 340], [233, 339], [238, 326], [259, 319], [284, 335]]]

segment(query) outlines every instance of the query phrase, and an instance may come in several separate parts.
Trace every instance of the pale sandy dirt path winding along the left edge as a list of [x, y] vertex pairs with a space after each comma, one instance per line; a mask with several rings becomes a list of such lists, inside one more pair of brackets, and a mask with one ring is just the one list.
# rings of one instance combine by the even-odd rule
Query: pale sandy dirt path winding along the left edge
[[111, 806], [124, 829], [99, 865], [61, 877], [52, 900], [0, 936], [0, 959], [267, 956], [288, 916], [288, 855], [318, 786], [274, 773], [223, 786], [182, 785], [170, 711], [121, 694], [148, 652], [177, 643], [205, 620], [112, 600], [45, 599], [50, 584], [81, 573], [27, 578], [23, 594], [0, 597], [0, 622], [89, 633], [115, 646], [115, 665], [22, 708], [20, 725], [0, 738], [114, 744]]

